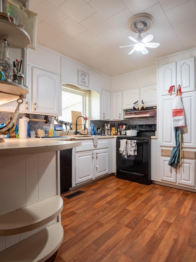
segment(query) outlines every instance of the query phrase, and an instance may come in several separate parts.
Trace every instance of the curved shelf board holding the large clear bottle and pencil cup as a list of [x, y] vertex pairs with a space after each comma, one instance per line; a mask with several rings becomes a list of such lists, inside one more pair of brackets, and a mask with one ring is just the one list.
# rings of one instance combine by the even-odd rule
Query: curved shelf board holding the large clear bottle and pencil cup
[[0, 80], [0, 94], [1, 92], [21, 96], [24, 94], [28, 94], [28, 87], [21, 86], [13, 82]]

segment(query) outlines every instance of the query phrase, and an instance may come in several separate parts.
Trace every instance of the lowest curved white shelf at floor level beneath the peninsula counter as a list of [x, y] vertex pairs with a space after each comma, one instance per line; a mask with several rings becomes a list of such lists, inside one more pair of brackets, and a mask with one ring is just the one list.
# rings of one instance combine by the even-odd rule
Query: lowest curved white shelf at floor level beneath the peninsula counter
[[57, 222], [0, 252], [0, 261], [45, 261], [59, 248], [63, 227]]

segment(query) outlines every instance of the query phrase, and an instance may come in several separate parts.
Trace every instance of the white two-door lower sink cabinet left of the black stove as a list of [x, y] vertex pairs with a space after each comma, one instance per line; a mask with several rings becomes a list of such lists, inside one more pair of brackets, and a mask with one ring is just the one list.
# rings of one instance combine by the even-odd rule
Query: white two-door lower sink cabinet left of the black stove
[[[112, 173], [112, 139], [82, 140], [82, 145], [73, 149], [72, 187]], [[75, 151], [75, 152], [74, 152]]]

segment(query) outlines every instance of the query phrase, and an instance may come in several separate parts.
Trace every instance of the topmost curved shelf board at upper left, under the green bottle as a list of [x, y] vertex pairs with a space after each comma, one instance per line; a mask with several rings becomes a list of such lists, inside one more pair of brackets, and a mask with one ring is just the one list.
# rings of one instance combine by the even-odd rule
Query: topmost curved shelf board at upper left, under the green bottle
[[28, 33], [12, 22], [0, 18], [0, 28], [0, 39], [8, 36], [8, 43], [11, 48], [25, 48], [31, 43]]

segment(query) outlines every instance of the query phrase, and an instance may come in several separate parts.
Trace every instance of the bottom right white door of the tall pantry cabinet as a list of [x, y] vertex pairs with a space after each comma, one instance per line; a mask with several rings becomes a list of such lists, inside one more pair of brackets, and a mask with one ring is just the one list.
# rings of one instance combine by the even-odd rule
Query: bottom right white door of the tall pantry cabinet
[[195, 186], [195, 160], [182, 159], [182, 167], [177, 171], [179, 185]]

